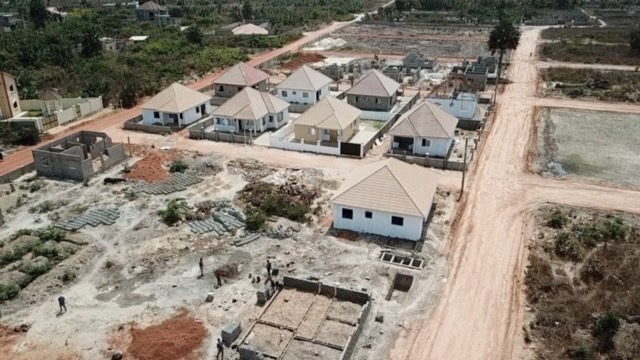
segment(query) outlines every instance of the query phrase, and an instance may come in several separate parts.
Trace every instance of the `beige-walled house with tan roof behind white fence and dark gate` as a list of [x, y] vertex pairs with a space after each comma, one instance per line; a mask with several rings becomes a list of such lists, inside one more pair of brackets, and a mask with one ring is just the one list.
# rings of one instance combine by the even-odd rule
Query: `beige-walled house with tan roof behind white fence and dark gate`
[[349, 141], [358, 131], [360, 114], [357, 108], [327, 96], [293, 122], [295, 138], [312, 144]]

